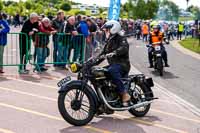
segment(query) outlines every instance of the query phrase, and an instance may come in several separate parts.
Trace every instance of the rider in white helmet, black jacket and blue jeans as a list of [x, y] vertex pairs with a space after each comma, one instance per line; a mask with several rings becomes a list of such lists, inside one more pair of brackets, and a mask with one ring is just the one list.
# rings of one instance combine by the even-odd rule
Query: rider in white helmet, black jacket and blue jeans
[[128, 76], [130, 70], [129, 44], [121, 34], [121, 25], [118, 21], [110, 20], [101, 29], [105, 30], [108, 42], [100, 55], [107, 55], [108, 71], [113, 83], [117, 86], [123, 105], [127, 106], [131, 97], [121, 78]]

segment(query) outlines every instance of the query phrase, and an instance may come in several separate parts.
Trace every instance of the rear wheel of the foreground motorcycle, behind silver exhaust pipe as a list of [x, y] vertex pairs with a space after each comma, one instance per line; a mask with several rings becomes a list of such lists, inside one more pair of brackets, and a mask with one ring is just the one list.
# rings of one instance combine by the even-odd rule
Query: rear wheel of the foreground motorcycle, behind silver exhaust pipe
[[[151, 89], [149, 89], [148, 86], [146, 86], [145, 84], [140, 85], [140, 86], [137, 85], [136, 88], [137, 88], [137, 91], [140, 92], [140, 96], [141, 96], [138, 98], [137, 102], [144, 102], [142, 100], [143, 98], [151, 97], [150, 93], [149, 93], [149, 90], [151, 90]], [[137, 108], [137, 109], [130, 109], [128, 111], [130, 114], [132, 114], [135, 117], [143, 117], [149, 112], [150, 107], [151, 107], [151, 104], [148, 104], [147, 106]]]

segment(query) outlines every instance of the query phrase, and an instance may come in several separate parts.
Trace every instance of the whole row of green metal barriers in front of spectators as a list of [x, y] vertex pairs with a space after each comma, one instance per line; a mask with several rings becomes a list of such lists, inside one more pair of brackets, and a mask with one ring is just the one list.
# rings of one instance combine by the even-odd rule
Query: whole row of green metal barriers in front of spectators
[[19, 73], [24, 73], [27, 63], [40, 71], [44, 64], [64, 67], [72, 62], [82, 63], [84, 58], [83, 35], [37, 33], [31, 38], [26, 33], [8, 33], [0, 66], [17, 66]]

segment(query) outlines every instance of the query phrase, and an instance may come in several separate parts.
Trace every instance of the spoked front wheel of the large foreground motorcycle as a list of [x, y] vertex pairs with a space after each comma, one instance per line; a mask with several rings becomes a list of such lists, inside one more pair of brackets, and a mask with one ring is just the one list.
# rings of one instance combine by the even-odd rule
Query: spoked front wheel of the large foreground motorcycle
[[[76, 100], [76, 94], [80, 92], [83, 100], [80, 101], [80, 95]], [[67, 91], [58, 96], [58, 109], [62, 117], [74, 126], [83, 126], [88, 124], [96, 113], [95, 100], [88, 89], [81, 90], [81, 86], [70, 86]]]

